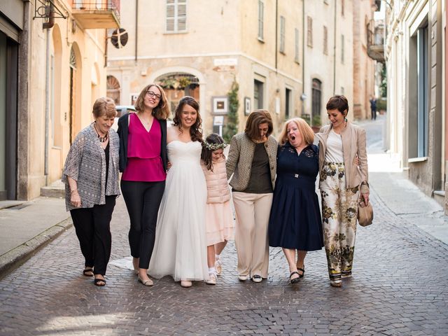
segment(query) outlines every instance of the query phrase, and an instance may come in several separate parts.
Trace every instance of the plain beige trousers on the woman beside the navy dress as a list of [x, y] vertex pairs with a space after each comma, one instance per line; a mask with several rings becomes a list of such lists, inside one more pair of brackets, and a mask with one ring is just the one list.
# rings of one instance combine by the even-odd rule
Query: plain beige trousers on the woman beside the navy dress
[[262, 278], [267, 278], [267, 267], [269, 266], [267, 225], [272, 195], [272, 193], [232, 193], [237, 219], [235, 245], [239, 275], [260, 275]]

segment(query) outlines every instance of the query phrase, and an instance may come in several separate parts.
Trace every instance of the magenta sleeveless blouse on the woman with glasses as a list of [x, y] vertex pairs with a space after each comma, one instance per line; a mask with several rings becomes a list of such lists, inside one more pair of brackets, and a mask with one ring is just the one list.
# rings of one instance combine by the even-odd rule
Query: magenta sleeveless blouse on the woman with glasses
[[165, 181], [167, 174], [160, 158], [161, 139], [159, 120], [154, 118], [148, 132], [137, 113], [130, 113], [127, 166], [121, 176], [123, 181]]

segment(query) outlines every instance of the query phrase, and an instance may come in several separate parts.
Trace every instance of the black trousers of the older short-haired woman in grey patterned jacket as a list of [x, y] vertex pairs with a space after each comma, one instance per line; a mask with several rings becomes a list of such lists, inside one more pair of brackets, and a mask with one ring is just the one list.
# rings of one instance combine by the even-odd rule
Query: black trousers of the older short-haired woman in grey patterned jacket
[[111, 218], [116, 196], [106, 196], [106, 204], [93, 208], [70, 210], [85, 266], [94, 267], [94, 274], [106, 274], [111, 258]]

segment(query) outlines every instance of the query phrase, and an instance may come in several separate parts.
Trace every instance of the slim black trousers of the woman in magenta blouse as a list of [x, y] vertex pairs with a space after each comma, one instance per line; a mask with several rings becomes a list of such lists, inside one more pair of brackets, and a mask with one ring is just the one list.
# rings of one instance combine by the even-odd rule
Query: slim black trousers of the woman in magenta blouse
[[153, 254], [155, 226], [165, 181], [121, 181], [121, 191], [130, 216], [129, 244], [131, 255], [140, 258], [139, 267], [148, 269]]

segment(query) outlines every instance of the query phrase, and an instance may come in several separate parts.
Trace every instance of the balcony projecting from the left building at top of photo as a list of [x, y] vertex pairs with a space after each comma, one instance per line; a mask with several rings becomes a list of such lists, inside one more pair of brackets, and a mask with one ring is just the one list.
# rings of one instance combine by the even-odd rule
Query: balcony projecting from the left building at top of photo
[[85, 29], [120, 27], [120, 0], [73, 0], [71, 8]]

